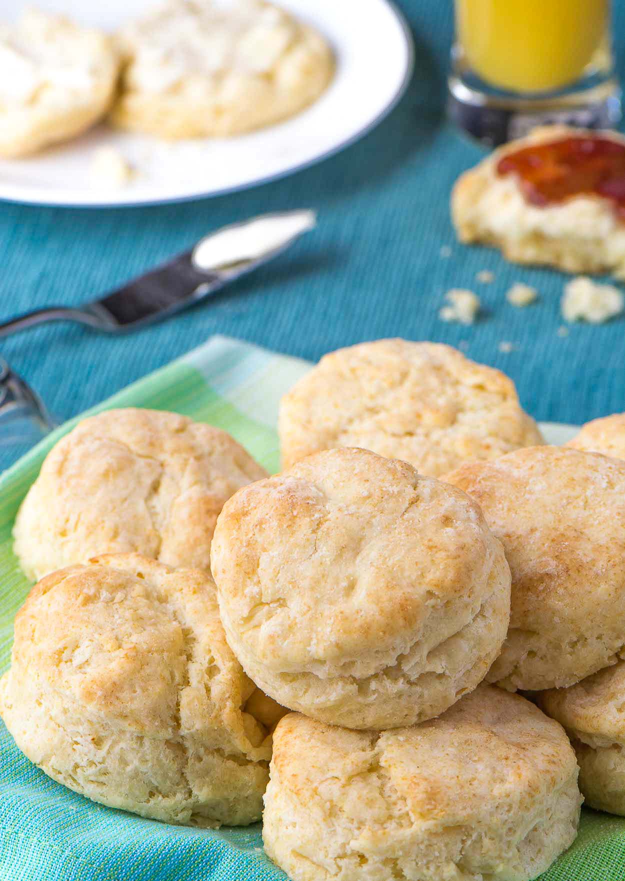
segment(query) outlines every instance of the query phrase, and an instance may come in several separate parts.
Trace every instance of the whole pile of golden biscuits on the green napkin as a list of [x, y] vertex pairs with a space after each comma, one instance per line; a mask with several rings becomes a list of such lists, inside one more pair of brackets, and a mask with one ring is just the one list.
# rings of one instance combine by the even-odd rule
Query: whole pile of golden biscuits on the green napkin
[[530, 881], [577, 763], [625, 813], [622, 428], [546, 446], [506, 376], [404, 340], [297, 383], [274, 477], [173, 413], [86, 419], [16, 520], [4, 721], [94, 801], [262, 814], [294, 881]]

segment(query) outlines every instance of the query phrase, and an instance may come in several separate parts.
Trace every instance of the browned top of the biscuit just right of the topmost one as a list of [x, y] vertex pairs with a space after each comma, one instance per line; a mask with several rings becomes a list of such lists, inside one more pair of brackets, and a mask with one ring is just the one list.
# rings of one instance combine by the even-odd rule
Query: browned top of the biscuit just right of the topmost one
[[579, 616], [582, 631], [585, 611], [597, 609], [598, 579], [604, 599], [625, 593], [625, 462], [531, 447], [466, 463], [448, 478], [480, 504], [501, 537], [525, 626], [549, 626], [542, 607], [548, 595]]

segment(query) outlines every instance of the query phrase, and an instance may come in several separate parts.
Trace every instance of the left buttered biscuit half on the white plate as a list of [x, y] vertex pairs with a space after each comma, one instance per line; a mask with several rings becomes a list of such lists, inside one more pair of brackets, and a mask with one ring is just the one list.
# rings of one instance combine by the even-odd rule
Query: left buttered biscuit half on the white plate
[[117, 81], [112, 41], [61, 16], [28, 10], [0, 26], [0, 156], [79, 135], [105, 115]]

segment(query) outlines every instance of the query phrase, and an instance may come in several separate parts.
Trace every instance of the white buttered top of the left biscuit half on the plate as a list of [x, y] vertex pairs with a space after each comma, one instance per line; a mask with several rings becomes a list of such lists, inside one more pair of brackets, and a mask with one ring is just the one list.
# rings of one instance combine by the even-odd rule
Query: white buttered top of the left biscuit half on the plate
[[88, 96], [113, 57], [103, 34], [27, 10], [16, 25], [0, 25], [0, 109]]

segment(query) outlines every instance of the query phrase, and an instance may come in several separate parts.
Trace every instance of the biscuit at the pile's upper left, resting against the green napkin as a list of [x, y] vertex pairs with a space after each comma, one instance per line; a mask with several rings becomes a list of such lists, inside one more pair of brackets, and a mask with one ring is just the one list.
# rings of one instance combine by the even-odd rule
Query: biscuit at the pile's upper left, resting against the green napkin
[[207, 569], [221, 506], [265, 476], [219, 428], [164, 411], [106, 411], [46, 457], [19, 509], [14, 551], [32, 579], [134, 551]]

